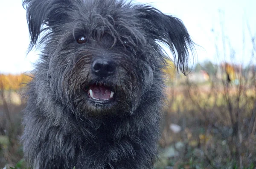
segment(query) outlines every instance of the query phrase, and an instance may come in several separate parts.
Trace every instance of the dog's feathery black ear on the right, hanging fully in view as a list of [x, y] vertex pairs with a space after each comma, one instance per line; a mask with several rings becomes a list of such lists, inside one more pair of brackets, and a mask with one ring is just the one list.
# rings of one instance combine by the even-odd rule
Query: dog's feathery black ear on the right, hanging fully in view
[[140, 7], [139, 12], [145, 31], [154, 40], [169, 45], [177, 70], [185, 74], [188, 68], [189, 50], [194, 48], [194, 42], [182, 21], [150, 6]]

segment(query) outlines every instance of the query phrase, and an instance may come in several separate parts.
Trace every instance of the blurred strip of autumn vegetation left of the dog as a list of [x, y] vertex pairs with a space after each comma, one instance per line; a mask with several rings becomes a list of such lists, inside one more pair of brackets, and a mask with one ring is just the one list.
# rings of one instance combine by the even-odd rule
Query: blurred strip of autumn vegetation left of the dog
[[30, 80], [24, 74], [0, 74], [0, 168], [5, 165], [17, 168], [23, 163], [20, 161], [23, 158], [20, 135], [23, 131], [21, 110], [25, 99], [21, 89]]

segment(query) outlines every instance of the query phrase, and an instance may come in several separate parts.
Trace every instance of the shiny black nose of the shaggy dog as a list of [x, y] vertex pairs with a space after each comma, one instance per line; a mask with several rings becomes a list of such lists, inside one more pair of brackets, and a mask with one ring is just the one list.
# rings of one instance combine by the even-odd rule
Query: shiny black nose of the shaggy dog
[[109, 59], [96, 59], [92, 64], [93, 73], [100, 77], [112, 75], [116, 70], [116, 65]]

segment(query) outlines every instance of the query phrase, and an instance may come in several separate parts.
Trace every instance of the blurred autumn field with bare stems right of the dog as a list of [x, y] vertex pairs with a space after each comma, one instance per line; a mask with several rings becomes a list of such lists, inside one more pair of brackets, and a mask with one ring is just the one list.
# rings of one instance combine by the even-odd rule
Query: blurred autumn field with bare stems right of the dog
[[169, 83], [156, 168], [254, 169], [255, 65], [204, 62], [191, 74]]

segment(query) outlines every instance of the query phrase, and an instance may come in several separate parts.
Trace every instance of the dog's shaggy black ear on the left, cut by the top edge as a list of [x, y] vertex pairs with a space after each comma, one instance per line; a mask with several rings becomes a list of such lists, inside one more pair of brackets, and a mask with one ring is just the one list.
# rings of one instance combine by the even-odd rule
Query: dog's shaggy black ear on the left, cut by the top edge
[[23, 7], [27, 10], [27, 22], [29, 26], [31, 50], [38, 41], [38, 37], [44, 25], [48, 29], [61, 24], [67, 19], [67, 1], [68, 0], [24, 0]]

